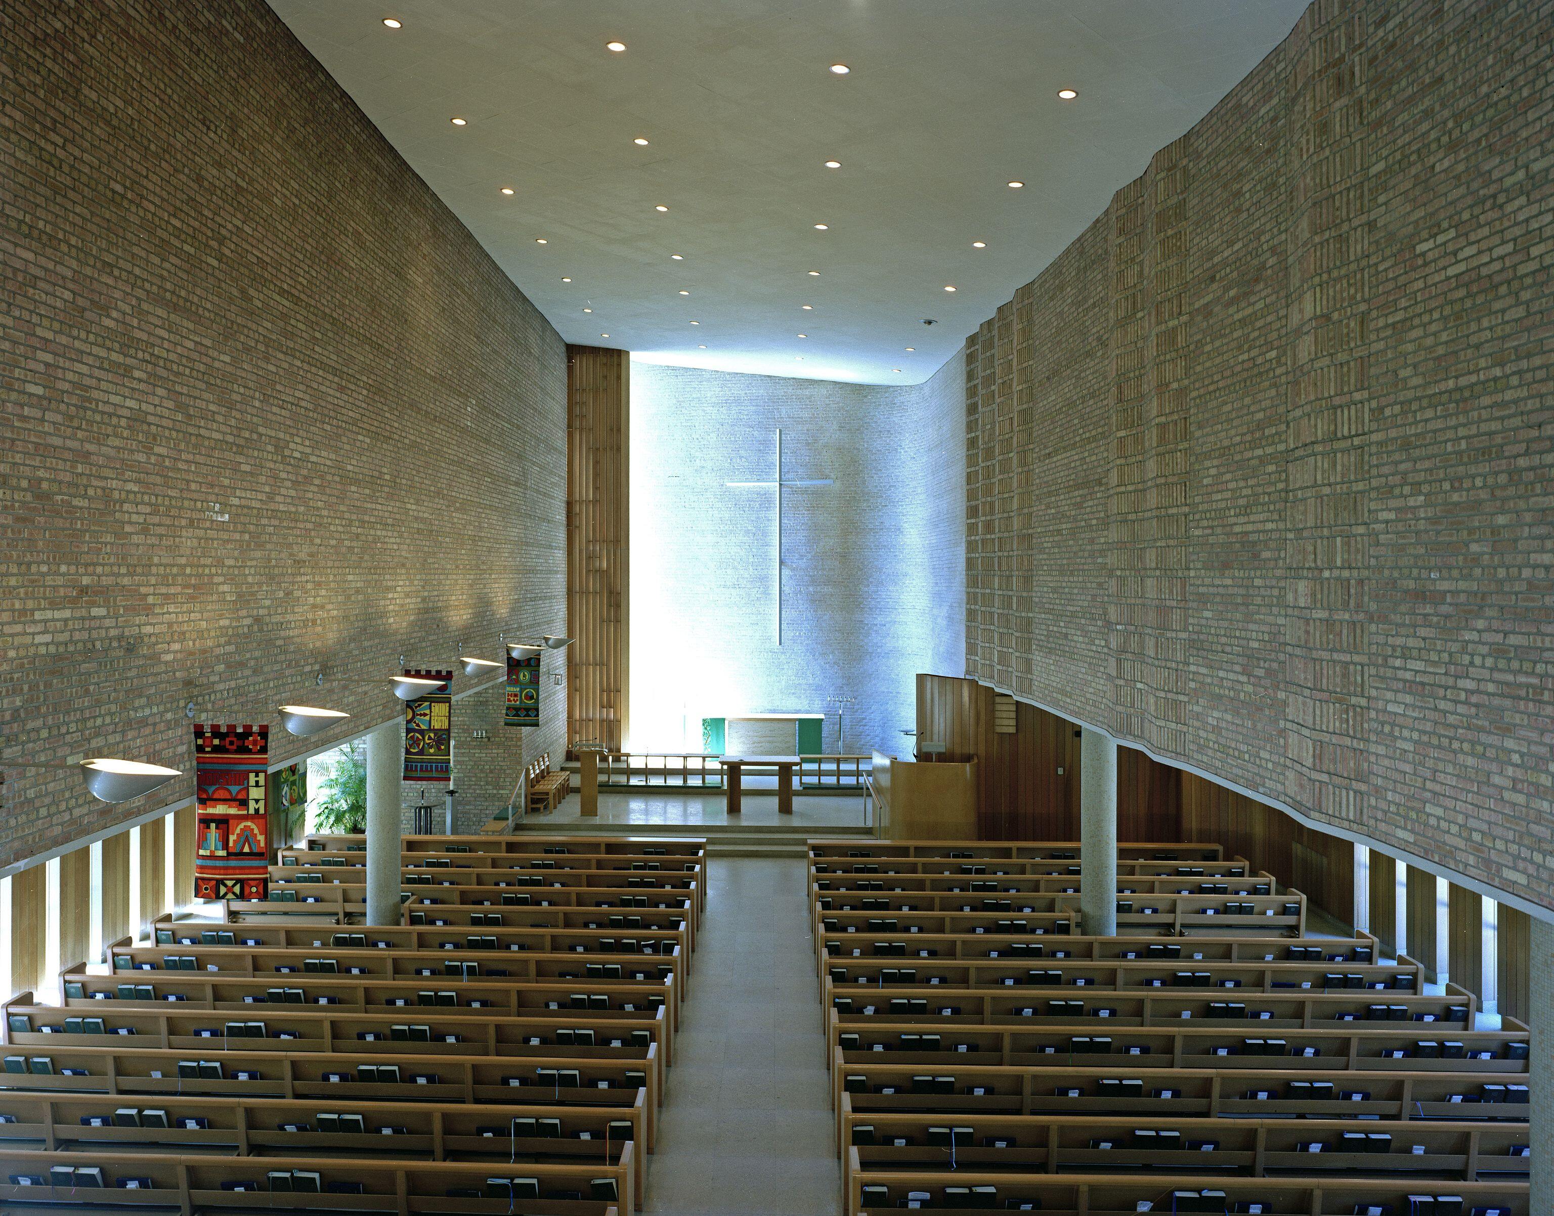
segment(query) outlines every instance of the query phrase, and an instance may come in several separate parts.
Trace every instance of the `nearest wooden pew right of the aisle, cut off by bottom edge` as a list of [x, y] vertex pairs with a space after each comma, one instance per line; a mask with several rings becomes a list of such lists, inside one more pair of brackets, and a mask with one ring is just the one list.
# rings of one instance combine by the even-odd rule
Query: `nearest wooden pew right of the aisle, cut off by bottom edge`
[[[878, 1171], [864, 1176], [850, 1169], [847, 1216], [884, 1216], [901, 1207], [908, 1196], [922, 1199], [925, 1216], [962, 1211], [968, 1207], [1002, 1207], [1012, 1211], [1041, 1211], [1043, 1216], [1111, 1216], [1111, 1213], [1220, 1213], [1248, 1211], [1235, 1204], [1262, 1204], [1277, 1216], [1354, 1216], [1355, 1211], [1388, 1210], [1408, 1216], [1409, 1196], [1458, 1196], [1464, 1216], [1473, 1207], [1501, 1207], [1510, 1216], [1528, 1216], [1524, 1182], [1425, 1182], [1408, 1179], [1237, 1179], [1207, 1174], [1015, 1174], [962, 1169], [954, 1176], [928, 1171]], [[1190, 1196], [1190, 1197], [1189, 1197]], [[1153, 1204], [1141, 1208], [1141, 1202]], [[1040, 1207], [1037, 1207], [1040, 1204]], [[1024, 1205], [1024, 1207], [1023, 1207]]]

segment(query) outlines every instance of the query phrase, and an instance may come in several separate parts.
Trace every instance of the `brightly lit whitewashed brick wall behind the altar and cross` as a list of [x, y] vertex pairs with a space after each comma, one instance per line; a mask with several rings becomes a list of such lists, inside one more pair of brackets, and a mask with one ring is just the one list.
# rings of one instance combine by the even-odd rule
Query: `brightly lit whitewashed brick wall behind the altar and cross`
[[[631, 367], [631, 739], [701, 750], [702, 716], [825, 713], [845, 749], [897, 753], [918, 671], [960, 674], [960, 356], [881, 387]], [[774, 432], [783, 641], [774, 643]]]

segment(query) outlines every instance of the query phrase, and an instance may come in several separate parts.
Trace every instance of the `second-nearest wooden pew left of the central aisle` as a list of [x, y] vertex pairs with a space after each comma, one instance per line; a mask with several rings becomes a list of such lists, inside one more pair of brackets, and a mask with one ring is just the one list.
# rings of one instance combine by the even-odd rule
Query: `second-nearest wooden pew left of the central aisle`
[[[503, 1162], [620, 1168], [620, 1197], [642, 1207], [643, 1112], [430, 1101], [22, 1093], [0, 1089], [0, 1148], [67, 1152], [172, 1151], [224, 1157]], [[56, 1159], [59, 1160], [59, 1159]]]

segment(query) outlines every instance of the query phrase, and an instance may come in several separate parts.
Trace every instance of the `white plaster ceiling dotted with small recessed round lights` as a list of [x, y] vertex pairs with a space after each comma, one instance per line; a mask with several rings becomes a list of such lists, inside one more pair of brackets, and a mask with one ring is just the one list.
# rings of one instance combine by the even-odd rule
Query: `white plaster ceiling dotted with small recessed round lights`
[[1305, 0], [270, 6], [567, 342], [917, 384]]

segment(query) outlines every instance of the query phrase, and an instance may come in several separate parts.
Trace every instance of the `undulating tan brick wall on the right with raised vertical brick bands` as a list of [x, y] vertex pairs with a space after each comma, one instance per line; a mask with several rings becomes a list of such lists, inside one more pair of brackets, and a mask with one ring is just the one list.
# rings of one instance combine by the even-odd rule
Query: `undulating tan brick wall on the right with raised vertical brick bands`
[[1545, 905], [1551, 51], [1321, 0], [967, 351], [968, 676]]

